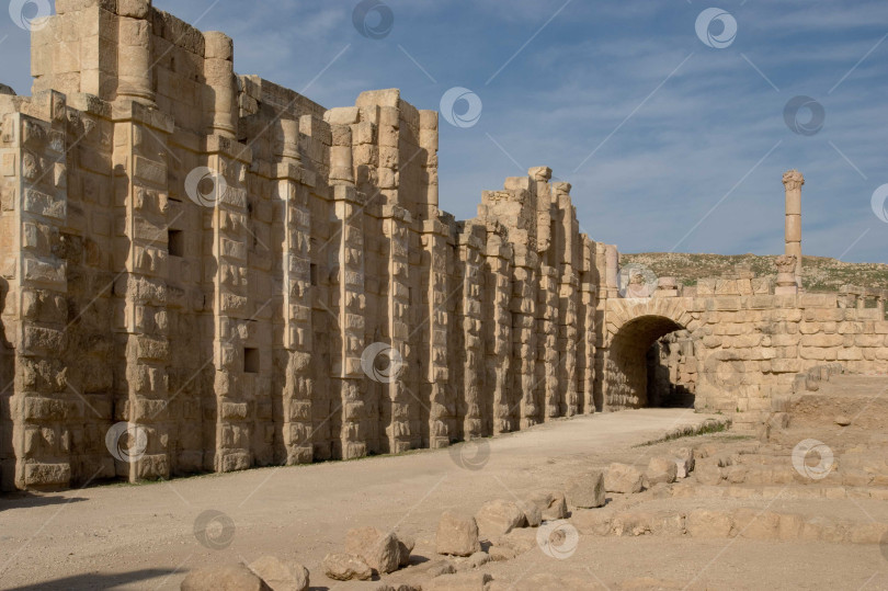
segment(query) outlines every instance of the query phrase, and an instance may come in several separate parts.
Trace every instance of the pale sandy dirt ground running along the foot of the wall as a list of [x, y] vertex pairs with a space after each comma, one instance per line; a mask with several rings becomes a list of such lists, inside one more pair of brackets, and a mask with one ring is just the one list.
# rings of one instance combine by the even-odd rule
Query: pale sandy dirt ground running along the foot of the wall
[[[434, 531], [445, 509], [474, 513], [491, 499], [561, 489], [577, 471], [612, 461], [646, 465], [676, 443], [639, 443], [706, 418], [683, 409], [633, 410], [558, 420], [480, 447], [0, 497], [0, 588], [178, 589], [192, 569], [273, 555], [308, 567], [312, 589], [345, 590], [355, 586], [327, 579], [320, 564], [327, 553], [342, 550], [351, 527], [412, 535], [413, 560], [435, 558]], [[719, 437], [731, 435], [681, 444]], [[230, 518], [227, 547], [214, 549], [195, 537], [195, 520], [205, 511]], [[602, 589], [640, 577], [679, 589], [888, 589], [888, 558], [878, 545], [743, 538], [583, 535], [568, 559], [534, 548], [482, 570], [506, 583], [569, 573]]]

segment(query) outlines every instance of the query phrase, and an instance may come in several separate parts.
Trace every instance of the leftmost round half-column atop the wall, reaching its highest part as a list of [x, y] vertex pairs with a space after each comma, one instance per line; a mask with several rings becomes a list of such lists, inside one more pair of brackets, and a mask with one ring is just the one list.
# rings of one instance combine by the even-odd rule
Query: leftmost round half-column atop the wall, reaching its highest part
[[117, 98], [153, 105], [151, 1], [119, 2], [117, 13]]

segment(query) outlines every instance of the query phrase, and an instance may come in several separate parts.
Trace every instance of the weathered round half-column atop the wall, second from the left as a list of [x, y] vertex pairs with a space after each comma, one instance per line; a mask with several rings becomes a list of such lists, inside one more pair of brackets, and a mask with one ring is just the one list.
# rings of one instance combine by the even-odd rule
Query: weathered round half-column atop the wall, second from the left
[[234, 138], [235, 118], [235, 47], [231, 37], [218, 31], [204, 33], [205, 55], [204, 109], [207, 133]]

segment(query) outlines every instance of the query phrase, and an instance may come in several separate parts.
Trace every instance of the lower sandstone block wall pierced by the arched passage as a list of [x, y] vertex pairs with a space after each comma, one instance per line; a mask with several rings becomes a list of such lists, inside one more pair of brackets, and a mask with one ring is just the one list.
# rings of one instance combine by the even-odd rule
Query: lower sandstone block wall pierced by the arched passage
[[[718, 285], [719, 294], [709, 293]], [[727, 293], [726, 293], [727, 292]], [[647, 406], [645, 352], [663, 334], [686, 330], [694, 341], [695, 408], [762, 424], [793, 393], [797, 374], [840, 362], [855, 373], [888, 367], [884, 309], [845, 305], [839, 294], [745, 294], [707, 280], [696, 297], [611, 298], [596, 354], [605, 371], [605, 409]]]

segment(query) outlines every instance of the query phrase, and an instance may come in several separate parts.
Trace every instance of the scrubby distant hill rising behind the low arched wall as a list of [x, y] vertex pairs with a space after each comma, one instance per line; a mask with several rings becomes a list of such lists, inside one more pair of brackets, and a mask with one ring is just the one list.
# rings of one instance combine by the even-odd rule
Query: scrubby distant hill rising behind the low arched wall
[[[697, 280], [730, 273], [747, 265], [758, 276], [777, 276], [776, 255], [758, 254], [691, 254], [684, 252], [621, 253], [622, 263], [639, 263], [658, 276], [674, 276], [683, 285], [696, 285]], [[888, 264], [843, 263], [826, 257], [802, 257], [802, 284], [809, 292], [838, 292], [852, 284], [867, 289], [888, 289]]]

